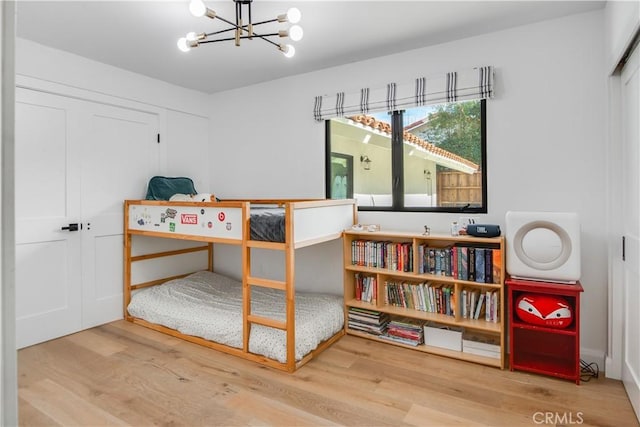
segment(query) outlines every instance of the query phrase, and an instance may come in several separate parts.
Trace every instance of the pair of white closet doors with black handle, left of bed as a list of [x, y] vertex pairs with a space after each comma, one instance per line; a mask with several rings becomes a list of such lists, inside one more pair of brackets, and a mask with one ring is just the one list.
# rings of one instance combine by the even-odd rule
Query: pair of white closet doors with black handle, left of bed
[[16, 91], [18, 348], [122, 318], [123, 200], [159, 173], [157, 129], [156, 114]]

